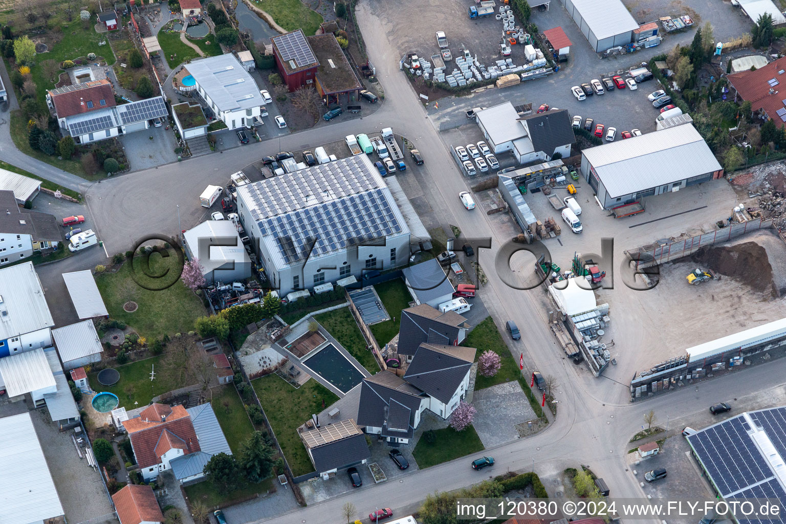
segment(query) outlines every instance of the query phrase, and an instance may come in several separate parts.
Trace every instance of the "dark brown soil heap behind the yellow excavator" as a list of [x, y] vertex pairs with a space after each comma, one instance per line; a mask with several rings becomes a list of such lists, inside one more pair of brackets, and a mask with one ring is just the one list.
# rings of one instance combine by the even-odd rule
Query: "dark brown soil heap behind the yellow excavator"
[[712, 269], [715, 273], [740, 280], [755, 291], [779, 296], [777, 287], [773, 285], [773, 268], [767, 251], [755, 242], [730, 247], [702, 247], [691, 256], [691, 260], [702, 269]]

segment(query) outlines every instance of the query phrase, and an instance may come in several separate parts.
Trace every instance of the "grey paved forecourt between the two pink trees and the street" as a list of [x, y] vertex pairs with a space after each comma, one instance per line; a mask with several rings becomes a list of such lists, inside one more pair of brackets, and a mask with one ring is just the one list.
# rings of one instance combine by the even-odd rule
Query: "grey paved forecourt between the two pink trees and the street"
[[472, 425], [486, 448], [516, 440], [516, 424], [537, 418], [518, 382], [476, 391], [472, 405], [478, 410]]

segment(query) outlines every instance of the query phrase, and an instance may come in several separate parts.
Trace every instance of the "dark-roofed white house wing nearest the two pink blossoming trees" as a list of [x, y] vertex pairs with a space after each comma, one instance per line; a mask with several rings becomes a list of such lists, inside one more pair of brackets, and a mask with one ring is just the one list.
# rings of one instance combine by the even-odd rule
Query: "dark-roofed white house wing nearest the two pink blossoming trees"
[[428, 409], [446, 419], [467, 394], [475, 353], [474, 347], [422, 343], [404, 380], [428, 394]]

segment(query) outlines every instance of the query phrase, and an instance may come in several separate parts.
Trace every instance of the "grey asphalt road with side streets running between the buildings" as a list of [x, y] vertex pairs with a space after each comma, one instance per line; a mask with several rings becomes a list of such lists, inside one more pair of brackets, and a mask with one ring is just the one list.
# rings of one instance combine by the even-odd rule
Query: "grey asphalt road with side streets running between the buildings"
[[[391, 95], [379, 111], [362, 121], [351, 120], [289, 134], [223, 154], [189, 159], [91, 185], [86, 191], [90, 219], [96, 225], [99, 237], [104, 240], [108, 255], [113, 255], [130, 248], [145, 234], [174, 235], [179, 229], [188, 229], [203, 220], [208, 210], [196, 206], [201, 189], [210, 183], [223, 185], [228, 174], [261, 156], [282, 149], [301, 149], [340, 140], [347, 134], [360, 132], [360, 129], [369, 132], [392, 126], [397, 133], [413, 141], [424, 154], [425, 165], [417, 176], [435, 215], [444, 224], [459, 226], [468, 236], [490, 236], [493, 239], [492, 247], [479, 254], [489, 278], [489, 283], [482, 289], [483, 302], [498, 322], [512, 319], [524, 329], [523, 340], [511, 344], [512, 353], [516, 357], [523, 353], [527, 368], [538, 368], [545, 375], [557, 378], [561, 384], [556, 393], [556, 399], [560, 401], [559, 416], [540, 434], [490, 449], [488, 454], [497, 460], [492, 471], [476, 473], [470, 469], [468, 458], [459, 459], [405, 475], [395, 486], [364, 487], [268, 520], [293, 524], [340, 522], [341, 507], [347, 501], [358, 508], [359, 515], [382, 506], [393, 508], [397, 515], [406, 515], [417, 508], [426, 493], [435, 489], [461, 488], [506, 470], [528, 471], [533, 467], [533, 459], [534, 471], [539, 475], [554, 475], [565, 467], [587, 464], [606, 480], [615, 497], [644, 497], [633, 475], [626, 471], [625, 454], [627, 442], [640, 429], [645, 412], [653, 409], [660, 420], [668, 417], [674, 428], [689, 424], [702, 427], [710, 422], [707, 406], [717, 401], [735, 398], [735, 412], [784, 401], [781, 383], [786, 361], [773, 361], [741, 370], [731, 376], [702, 383], [699, 387], [685, 387], [635, 404], [628, 401], [627, 384], [588, 377], [581, 374], [578, 366], [565, 361], [547, 328], [542, 295], [538, 291], [509, 288], [494, 271], [491, 261], [498, 254], [498, 247], [508, 239], [501, 238], [494, 231], [487, 215], [465, 211], [461, 206], [457, 193], [466, 187], [465, 178], [452, 162], [446, 145], [417, 101], [416, 94], [398, 71], [399, 57], [395, 46], [387, 41], [387, 33], [373, 16], [372, 9], [373, 5], [369, 2], [362, 2], [358, 5], [358, 18], [366, 42], [375, 42], [374, 46], [369, 46], [370, 58], [376, 65], [385, 92]], [[558, 81], [559, 76], [554, 79]], [[562, 91], [560, 97], [570, 96], [567, 89]], [[498, 98], [501, 101], [505, 96], [506, 93], [500, 93]], [[556, 104], [559, 103], [557, 98]], [[7, 145], [0, 147], [0, 156], [4, 159], [9, 159], [11, 153]], [[17, 159], [16, 163], [28, 168], [31, 165], [24, 159]], [[73, 259], [69, 265], [84, 262], [85, 267], [90, 267], [96, 263], [94, 258], [100, 255], [98, 250], [93, 250], [90, 257], [79, 261]], [[750, 384], [756, 384], [758, 393], [751, 393]]]

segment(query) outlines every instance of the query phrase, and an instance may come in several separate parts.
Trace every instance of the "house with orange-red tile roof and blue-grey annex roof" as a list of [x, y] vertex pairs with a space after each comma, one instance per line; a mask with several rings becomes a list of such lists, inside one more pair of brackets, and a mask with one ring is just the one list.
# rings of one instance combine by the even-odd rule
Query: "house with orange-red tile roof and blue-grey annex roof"
[[232, 453], [210, 404], [152, 404], [123, 427], [145, 482], [167, 470], [180, 482], [200, 480], [212, 456]]

